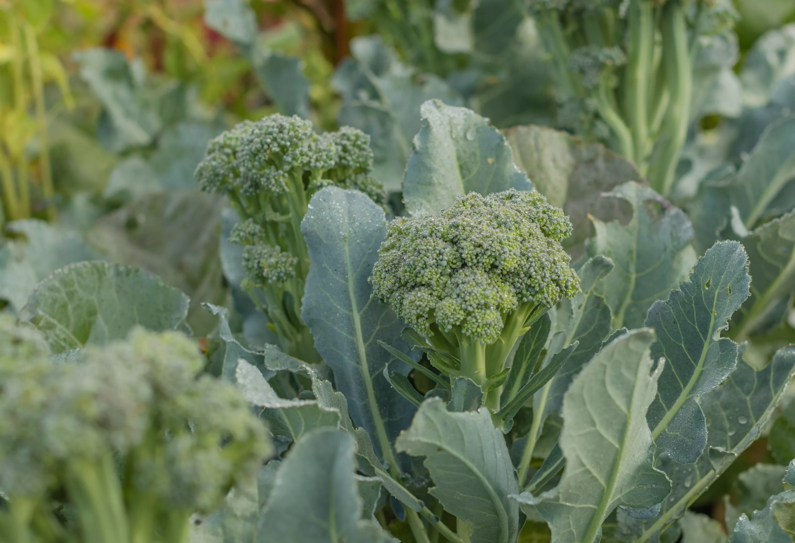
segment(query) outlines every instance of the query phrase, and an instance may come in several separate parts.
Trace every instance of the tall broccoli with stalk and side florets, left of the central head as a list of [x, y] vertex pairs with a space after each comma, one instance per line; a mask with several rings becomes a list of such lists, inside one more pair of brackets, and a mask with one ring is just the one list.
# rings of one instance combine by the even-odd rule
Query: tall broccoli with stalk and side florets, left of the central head
[[280, 114], [244, 121], [210, 141], [196, 179], [204, 191], [226, 194], [241, 218], [230, 240], [245, 246], [242, 287], [276, 333], [281, 348], [320, 361], [301, 298], [309, 256], [301, 221], [309, 199], [335, 184], [363, 191], [382, 205], [386, 193], [370, 177], [370, 138], [357, 129], [316, 134], [312, 123]]

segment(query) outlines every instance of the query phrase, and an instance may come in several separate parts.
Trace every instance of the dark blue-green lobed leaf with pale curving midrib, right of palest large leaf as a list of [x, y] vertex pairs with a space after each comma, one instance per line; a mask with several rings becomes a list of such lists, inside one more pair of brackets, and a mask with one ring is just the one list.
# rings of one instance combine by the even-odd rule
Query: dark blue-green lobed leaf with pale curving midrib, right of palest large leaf
[[667, 360], [649, 424], [657, 449], [681, 464], [695, 462], [707, 443], [696, 397], [717, 387], [737, 366], [737, 344], [719, 335], [748, 297], [749, 283], [743, 245], [719, 241], [668, 300], [649, 310], [646, 325], [657, 330], [652, 356]]

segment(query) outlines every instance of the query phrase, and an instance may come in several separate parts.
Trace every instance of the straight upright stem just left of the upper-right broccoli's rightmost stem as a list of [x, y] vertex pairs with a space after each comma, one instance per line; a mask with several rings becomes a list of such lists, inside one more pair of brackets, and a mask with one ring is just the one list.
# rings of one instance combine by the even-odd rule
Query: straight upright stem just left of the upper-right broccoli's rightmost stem
[[630, 4], [629, 59], [624, 77], [626, 118], [634, 141], [634, 160], [641, 173], [646, 173], [646, 156], [649, 152], [649, 86], [650, 69], [654, 54], [654, 12], [651, 0]]

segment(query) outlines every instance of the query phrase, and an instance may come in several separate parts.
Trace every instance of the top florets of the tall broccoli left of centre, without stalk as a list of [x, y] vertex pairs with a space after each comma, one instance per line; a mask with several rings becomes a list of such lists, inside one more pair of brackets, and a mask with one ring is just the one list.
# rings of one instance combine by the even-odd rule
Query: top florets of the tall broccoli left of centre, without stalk
[[372, 164], [370, 137], [362, 131], [343, 127], [319, 135], [311, 121], [274, 114], [243, 121], [211, 140], [196, 179], [209, 192], [284, 194], [291, 176], [314, 172], [339, 183]]

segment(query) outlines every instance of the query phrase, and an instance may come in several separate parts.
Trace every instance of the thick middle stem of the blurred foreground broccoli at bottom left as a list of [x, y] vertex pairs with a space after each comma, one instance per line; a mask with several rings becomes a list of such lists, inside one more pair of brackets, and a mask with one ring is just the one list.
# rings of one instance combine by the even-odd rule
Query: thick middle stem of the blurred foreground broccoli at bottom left
[[99, 458], [70, 459], [65, 486], [80, 518], [85, 543], [130, 541], [122, 486], [110, 451]]

